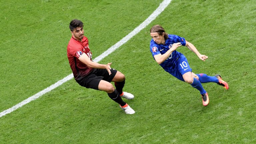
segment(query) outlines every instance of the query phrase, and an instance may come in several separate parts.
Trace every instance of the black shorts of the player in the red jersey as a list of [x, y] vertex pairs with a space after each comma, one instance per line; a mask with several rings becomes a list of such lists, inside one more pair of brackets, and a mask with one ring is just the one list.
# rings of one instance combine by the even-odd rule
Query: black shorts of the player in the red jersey
[[111, 75], [108, 74], [106, 69], [94, 69], [87, 76], [76, 79], [76, 82], [83, 87], [99, 90], [99, 83], [101, 80], [111, 82], [115, 77], [117, 70], [111, 69], [110, 71]]

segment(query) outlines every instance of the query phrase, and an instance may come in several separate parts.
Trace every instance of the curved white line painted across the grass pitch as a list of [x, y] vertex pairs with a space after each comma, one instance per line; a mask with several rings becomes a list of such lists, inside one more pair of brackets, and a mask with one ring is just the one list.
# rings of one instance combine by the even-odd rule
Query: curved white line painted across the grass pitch
[[[120, 46], [122, 46], [124, 43], [126, 43], [128, 40], [130, 40], [133, 36], [135, 36], [137, 33], [139, 33], [142, 29], [144, 29], [147, 25], [149, 25], [162, 11], [164, 11], [164, 9], [170, 4], [172, 0], [164, 0], [159, 7], [143, 22], [141, 23], [138, 27], [136, 27], [132, 32], [130, 32], [127, 36], [125, 36], [123, 39], [121, 39], [119, 42], [117, 42], [115, 45], [113, 45], [112, 47], [110, 47], [108, 50], [106, 50], [105, 52], [103, 52], [101, 55], [99, 55], [98, 57], [96, 57], [93, 61], [95, 62], [99, 62], [101, 61], [103, 58], [105, 58], [106, 56], [108, 56], [109, 54], [111, 54], [113, 51], [115, 51], [116, 49], [118, 49]], [[49, 91], [59, 87], [60, 85], [62, 85], [63, 83], [71, 80], [73, 78], [73, 73], [71, 73], [70, 75], [66, 76], [65, 78], [63, 78], [62, 80], [59, 80], [58, 82], [56, 82], [55, 84], [47, 87], [46, 89], [38, 92], [37, 94], [25, 99], [24, 101], [18, 103], [17, 105], [4, 110], [0, 113], [0, 117], [13, 112], [14, 110], [22, 107], [23, 105], [39, 98], [40, 96], [48, 93]]]

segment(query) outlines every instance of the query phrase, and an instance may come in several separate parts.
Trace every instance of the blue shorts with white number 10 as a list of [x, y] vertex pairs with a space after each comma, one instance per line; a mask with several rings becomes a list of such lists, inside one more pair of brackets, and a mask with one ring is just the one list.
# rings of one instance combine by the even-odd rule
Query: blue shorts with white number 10
[[182, 75], [187, 72], [192, 72], [192, 69], [188, 64], [187, 58], [181, 55], [176, 62], [175, 70], [169, 73], [174, 77], [176, 77], [177, 79], [184, 81]]

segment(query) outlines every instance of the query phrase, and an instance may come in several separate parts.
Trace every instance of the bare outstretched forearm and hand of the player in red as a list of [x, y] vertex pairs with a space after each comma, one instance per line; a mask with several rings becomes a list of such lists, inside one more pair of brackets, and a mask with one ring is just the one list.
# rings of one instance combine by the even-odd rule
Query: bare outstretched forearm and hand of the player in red
[[112, 63], [108, 63], [108, 64], [99, 64], [97, 62], [91, 61], [91, 59], [85, 54], [83, 53], [79, 58], [78, 58], [82, 63], [86, 64], [88, 67], [91, 68], [98, 68], [98, 69], [107, 69], [109, 75], [111, 74], [110, 70], [111, 67], [110, 65]]

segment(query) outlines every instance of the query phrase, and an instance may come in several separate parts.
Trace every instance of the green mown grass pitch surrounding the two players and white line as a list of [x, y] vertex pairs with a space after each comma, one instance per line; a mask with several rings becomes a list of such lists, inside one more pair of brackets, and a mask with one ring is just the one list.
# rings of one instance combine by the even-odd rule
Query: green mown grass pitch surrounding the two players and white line
[[[0, 112], [72, 71], [66, 56], [69, 22], [84, 22], [96, 58], [141, 24], [162, 0], [1, 0]], [[228, 144], [256, 143], [256, 2], [173, 0], [145, 29], [99, 63], [126, 76], [125, 114], [105, 92], [74, 79], [0, 117], [1, 144]], [[225, 90], [198, 90], [165, 72], [149, 51], [149, 29], [162, 25], [209, 58], [179, 47], [194, 73], [221, 74]]]

